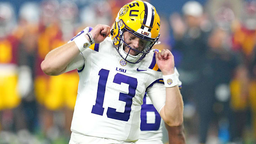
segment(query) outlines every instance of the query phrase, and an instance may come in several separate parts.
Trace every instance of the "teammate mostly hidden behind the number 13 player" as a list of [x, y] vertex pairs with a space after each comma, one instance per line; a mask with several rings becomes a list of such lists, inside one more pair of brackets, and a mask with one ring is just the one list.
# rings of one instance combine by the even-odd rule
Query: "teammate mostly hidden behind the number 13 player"
[[[181, 81], [178, 79], [180, 75], [175, 68], [175, 73], [178, 80], [178, 86], [181, 89]], [[140, 113], [140, 137], [137, 144], [163, 144], [162, 141], [162, 119], [160, 114], [153, 106], [149, 96], [145, 94], [143, 98], [143, 105]], [[178, 127], [170, 127], [165, 124], [168, 131], [170, 144], [185, 144], [185, 135], [183, 132], [183, 125]]]

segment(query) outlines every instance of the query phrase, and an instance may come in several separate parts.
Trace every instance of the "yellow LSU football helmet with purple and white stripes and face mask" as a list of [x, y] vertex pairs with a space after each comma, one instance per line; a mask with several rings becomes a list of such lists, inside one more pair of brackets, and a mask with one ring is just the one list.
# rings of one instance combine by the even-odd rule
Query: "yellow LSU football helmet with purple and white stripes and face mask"
[[[160, 17], [153, 5], [141, 0], [134, 0], [124, 5], [117, 14], [113, 24], [112, 39], [114, 47], [119, 55], [129, 63], [139, 63], [151, 48], [158, 41], [160, 36]], [[123, 33], [128, 31], [134, 36], [146, 41], [143, 51], [130, 47], [124, 42]], [[138, 55], [131, 55], [125, 52], [123, 44], [130, 50], [138, 52]]]

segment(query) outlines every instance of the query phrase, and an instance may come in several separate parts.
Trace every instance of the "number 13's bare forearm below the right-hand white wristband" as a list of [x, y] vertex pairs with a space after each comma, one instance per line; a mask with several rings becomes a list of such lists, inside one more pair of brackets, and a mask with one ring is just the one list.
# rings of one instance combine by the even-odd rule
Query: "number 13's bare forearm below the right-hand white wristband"
[[166, 103], [161, 112], [169, 126], [180, 126], [183, 122], [183, 100], [178, 86], [166, 88]]

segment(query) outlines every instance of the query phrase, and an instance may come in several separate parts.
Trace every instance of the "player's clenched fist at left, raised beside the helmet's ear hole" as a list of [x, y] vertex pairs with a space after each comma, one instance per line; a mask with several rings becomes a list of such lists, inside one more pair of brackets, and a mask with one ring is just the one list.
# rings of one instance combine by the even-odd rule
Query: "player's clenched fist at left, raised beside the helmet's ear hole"
[[91, 34], [94, 38], [94, 42], [100, 43], [110, 34], [110, 27], [107, 25], [96, 25], [91, 30]]

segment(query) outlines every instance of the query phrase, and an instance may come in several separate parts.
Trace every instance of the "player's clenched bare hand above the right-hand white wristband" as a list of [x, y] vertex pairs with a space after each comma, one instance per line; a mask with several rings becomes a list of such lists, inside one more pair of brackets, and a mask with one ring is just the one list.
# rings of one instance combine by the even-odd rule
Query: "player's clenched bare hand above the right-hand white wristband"
[[156, 64], [163, 75], [174, 74], [174, 56], [168, 49], [162, 49], [161, 52], [155, 51]]

